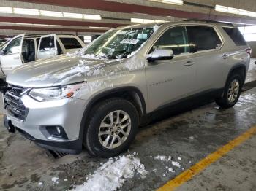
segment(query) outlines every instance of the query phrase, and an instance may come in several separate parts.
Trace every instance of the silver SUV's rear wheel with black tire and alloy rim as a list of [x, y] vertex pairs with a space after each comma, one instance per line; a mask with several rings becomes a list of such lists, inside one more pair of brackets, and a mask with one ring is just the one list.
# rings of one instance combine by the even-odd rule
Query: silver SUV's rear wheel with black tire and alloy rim
[[[236, 88], [236, 90], [232, 89], [233, 85], [235, 85], [234, 83], [238, 85], [238, 88]], [[224, 109], [233, 107], [237, 103], [238, 98], [240, 97], [242, 86], [243, 86], [243, 81], [242, 81], [241, 75], [236, 73], [232, 74], [231, 77], [227, 79], [227, 84], [225, 86], [225, 90], [222, 97], [217, 98], [215, 100], [216, 104]], [[233, 98], [231, 98], [232, 94], [233, 94]]]

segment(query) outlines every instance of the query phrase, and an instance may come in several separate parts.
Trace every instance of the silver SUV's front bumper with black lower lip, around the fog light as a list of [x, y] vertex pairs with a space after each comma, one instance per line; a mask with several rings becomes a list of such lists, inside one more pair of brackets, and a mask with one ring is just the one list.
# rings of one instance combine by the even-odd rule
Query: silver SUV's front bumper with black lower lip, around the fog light
[[[46, 149], [72, 154], [77, 154], [82, 150], [80, 124], [85, 101], [66, 98], [39, 102], [29, 95], [23, 95], [21, 101], [28, 110], [24, 120], [14, 117], [8, 111], [4, 117], [4, 125], [10, 132], [17, 130], [27, 139]], [[54, 138], [45, 130], [57, 126], [63, 129], [65, 139]]]

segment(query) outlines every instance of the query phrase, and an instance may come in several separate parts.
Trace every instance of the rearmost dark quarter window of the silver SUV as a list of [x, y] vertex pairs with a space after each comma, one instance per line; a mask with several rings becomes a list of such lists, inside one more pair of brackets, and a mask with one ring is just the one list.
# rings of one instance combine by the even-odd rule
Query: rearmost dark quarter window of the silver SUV
[[229, 28], [223, 27], [224, 31], [228, 36], [235, 42], [236, 46], [246, 46], [246, 41], [244, 40], [244, 36], [240, 33], [238, 28]]

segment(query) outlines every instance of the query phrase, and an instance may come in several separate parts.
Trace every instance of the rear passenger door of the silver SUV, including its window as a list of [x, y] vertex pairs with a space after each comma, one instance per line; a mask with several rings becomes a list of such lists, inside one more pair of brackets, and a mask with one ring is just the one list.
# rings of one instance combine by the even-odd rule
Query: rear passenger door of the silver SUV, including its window
[[214, 26], [187, 26], [190, 58], [196, 63], [197, 92], [222, 87], [225, 75], [222, 55], [223, 40]]

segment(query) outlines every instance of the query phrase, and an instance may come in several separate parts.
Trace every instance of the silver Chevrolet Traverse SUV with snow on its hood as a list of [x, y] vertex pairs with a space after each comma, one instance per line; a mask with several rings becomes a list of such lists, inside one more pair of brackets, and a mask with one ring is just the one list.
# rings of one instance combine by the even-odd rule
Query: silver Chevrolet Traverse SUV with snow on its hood
[[[198, 96], [236, 104], [250, 48], [235, 26], [187, 20], [116, 28], [72, 55], [7, 76], [4, 123], [42, 147], [112, 157], [162, 109]], [[171, 106], [171, 107], [170, 107]]]

